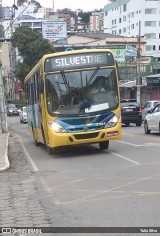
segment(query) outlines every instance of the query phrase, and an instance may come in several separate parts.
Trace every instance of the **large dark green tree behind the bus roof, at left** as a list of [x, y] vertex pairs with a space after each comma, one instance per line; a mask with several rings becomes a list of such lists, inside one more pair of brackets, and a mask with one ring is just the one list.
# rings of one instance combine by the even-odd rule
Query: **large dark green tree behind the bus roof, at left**
[[25, 76], [43, 55], [55, 52], [52, 44], [44, 39], [41, 33], [27, 26], [16, 28], [11, 37], [11, 43], [18, 49], [19, 56], [22, 58], [17, 62], [15, 70], [15, 76], [22, 84]]

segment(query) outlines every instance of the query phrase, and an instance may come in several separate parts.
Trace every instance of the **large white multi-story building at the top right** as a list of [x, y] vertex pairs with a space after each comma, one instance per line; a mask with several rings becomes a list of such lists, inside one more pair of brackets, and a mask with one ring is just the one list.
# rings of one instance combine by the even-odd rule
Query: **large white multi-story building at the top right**
[[104, 7], [104, 32], [146, 36], [146, 55], [160, 61], [160, 0], [117, 0]]

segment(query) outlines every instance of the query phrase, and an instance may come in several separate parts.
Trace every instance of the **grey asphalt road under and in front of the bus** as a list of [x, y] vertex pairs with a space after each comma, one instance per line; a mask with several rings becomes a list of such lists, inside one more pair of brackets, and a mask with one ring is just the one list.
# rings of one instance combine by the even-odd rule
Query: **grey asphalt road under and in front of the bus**
[[9, 117], [8, 125], [37, 175], [54, 226], [160, 227], [158, 133], [131, 125], [108, 151], [84, 145], [49, 156], [18, 117]]

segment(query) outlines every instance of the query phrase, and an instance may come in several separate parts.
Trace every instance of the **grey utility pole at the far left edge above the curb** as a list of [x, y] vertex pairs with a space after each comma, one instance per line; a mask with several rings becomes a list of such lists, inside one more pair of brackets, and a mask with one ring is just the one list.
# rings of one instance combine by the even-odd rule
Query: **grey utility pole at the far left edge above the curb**
[[7, 133], [8, 127], [7, 127], [7, 118], [6, 118], [6, 110], [5, 110], [4, 85], [3, 85], [3, 78], [2, 78], [1, 58], [0, 58], [0, 118], [1, 118], [2, 133]]

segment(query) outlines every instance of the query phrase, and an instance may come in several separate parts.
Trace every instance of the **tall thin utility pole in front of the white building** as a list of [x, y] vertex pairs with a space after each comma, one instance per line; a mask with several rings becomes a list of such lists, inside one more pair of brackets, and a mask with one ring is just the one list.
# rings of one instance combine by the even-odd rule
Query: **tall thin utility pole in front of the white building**
[[138, 33], [138, 50], [137, 50], [137, 102], [141, 104], [141, 73], [140, 73], [140, 57], [141, 57], [141, 22], [139, 21], [139, 33]]

